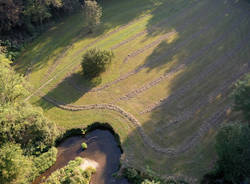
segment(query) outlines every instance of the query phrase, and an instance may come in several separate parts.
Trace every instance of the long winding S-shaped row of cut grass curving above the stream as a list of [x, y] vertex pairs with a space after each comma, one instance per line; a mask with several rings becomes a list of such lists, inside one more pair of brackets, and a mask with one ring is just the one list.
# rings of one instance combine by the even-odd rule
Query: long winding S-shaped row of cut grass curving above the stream
[[[243, 42], [239, 43], [237, 47], [234, 48], [235, 52], [237, 51], [237, 49], [241, 49], [242, 47], [244, 47], [248, 43], [249, 39], [250, 37], [244, 40]], [[231, 57], [231, 55], [227, 55], [227, 56]], [[249, 67], [247, 67], [246, 71], [249, 71]], [[246, 71], [244, 70], [244, 72]], [[244, 74], [244, 72], [241, 72], [241, 74]], [[236, 75], [233, 80], [235, 80], [237, 76], [238, 75]], [[224, 88], [222, 90], [224, 90]], [[222, 111], [218, 111], [217, 113], [215, 113], [211, 118], [205, 121], [205, 123], [201, 126], [199, 131], [195, 133], [195, 135], [191, 136], [190, 139], [180, 144], [177, 148], [163, 148], [153, 143], [152, 139], [150, 139], [145, 134], [144, 129], [141, 126], [141, 123], [132, 114], [126, 112], [125, 110], [123, 110], [117, 105], [114, 105], [114, 104], [65, 105], [64, 103], [58, 102], [55, 99], [48, 97], [48, 96], [42, 96], [42, 98], [54, 104], [55, 106], [64, 110], [68, 110], [68, 111], [83, 111], [83, 110], [98, 110], [98, 109], [115, 111], [121, 114], [125, 119], [129, 120], [129, 122], [131, 122], [134, 126], [136, 126], [137, 130], [139, 131], [146, 145], [150, 146], [156, 152], [165, 153], [168, 156], [178, 156], [179, 154], [182, 154], [186, 152], [187, 150], [189, 150], [190, 148], [192, 148], [199, 141], [199, 138], [202, 137], [213, 125], [221, 122], [227, 110], [230, 108], [230, 104], [228, 104], [226, 105], [225, 108], [223, 108]]]

